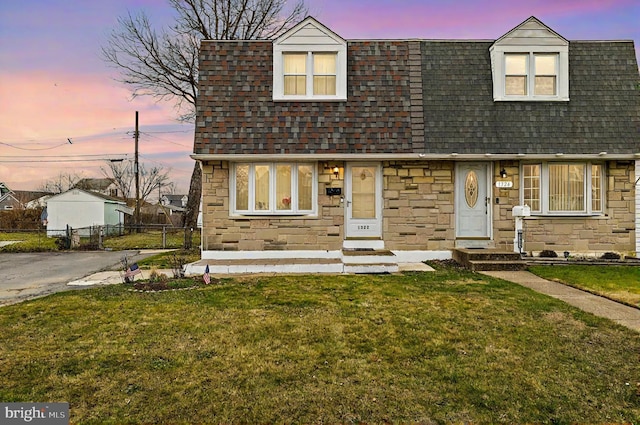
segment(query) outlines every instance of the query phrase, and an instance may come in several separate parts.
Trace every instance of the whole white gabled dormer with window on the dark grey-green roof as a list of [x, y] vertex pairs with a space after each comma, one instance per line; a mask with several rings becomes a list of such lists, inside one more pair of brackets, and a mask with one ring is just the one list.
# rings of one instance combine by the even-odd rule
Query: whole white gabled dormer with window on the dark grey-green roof
[[489, 49], [496, 101], [568, 101], [569, 42], [536, 18]]

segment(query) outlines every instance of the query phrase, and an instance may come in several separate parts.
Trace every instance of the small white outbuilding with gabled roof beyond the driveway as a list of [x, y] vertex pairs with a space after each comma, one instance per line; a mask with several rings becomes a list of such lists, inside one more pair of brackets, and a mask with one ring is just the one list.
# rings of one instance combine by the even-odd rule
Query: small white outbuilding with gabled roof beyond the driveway
[[125, 214], [133, 210], [124, 201], [83, 189], [70, 189], [47, 201], [47, 236], [64, 235], [67, 226], [80, 235], [95, 226], [123, 226]]

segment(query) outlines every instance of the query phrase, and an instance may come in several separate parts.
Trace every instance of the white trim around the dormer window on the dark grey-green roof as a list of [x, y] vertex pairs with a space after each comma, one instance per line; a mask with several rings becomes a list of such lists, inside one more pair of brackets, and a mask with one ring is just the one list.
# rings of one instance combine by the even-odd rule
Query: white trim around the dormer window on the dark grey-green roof
[[[491, 73], [494, 101], [569, 101], [569, 41], [530, 17], [491, 45]], [[506, 89], [506, 56], [526, 55], [526, 95], [508, 94]], [[557, 55], [555, 94], [535, 93], [536, 55]]]

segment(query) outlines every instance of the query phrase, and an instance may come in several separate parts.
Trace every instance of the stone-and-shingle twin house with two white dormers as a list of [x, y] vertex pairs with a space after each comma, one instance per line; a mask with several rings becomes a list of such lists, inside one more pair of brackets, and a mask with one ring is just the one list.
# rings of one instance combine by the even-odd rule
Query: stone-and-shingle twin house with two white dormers
[[199, 63], [212, 264], [640, 251], [632, 41], [535, 17], [494, 41], [344, 40], [307, 18], [275, 41], [205, 40]]

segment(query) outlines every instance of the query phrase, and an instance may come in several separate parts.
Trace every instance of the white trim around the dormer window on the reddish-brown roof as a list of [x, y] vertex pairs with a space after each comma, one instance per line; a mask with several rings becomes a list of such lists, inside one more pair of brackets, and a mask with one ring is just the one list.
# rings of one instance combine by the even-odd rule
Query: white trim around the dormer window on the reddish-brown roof
[[[306, 94], [286, 95], [284, 93], [284, 55], [287, 53], [306, 54]], [[335, 95], [314, 95], [313, 54], [336, 54]], [[273, 100], [274, 101], [345, 101], [347, 100], [347, 42], [308, 17], [273, 42]]]

